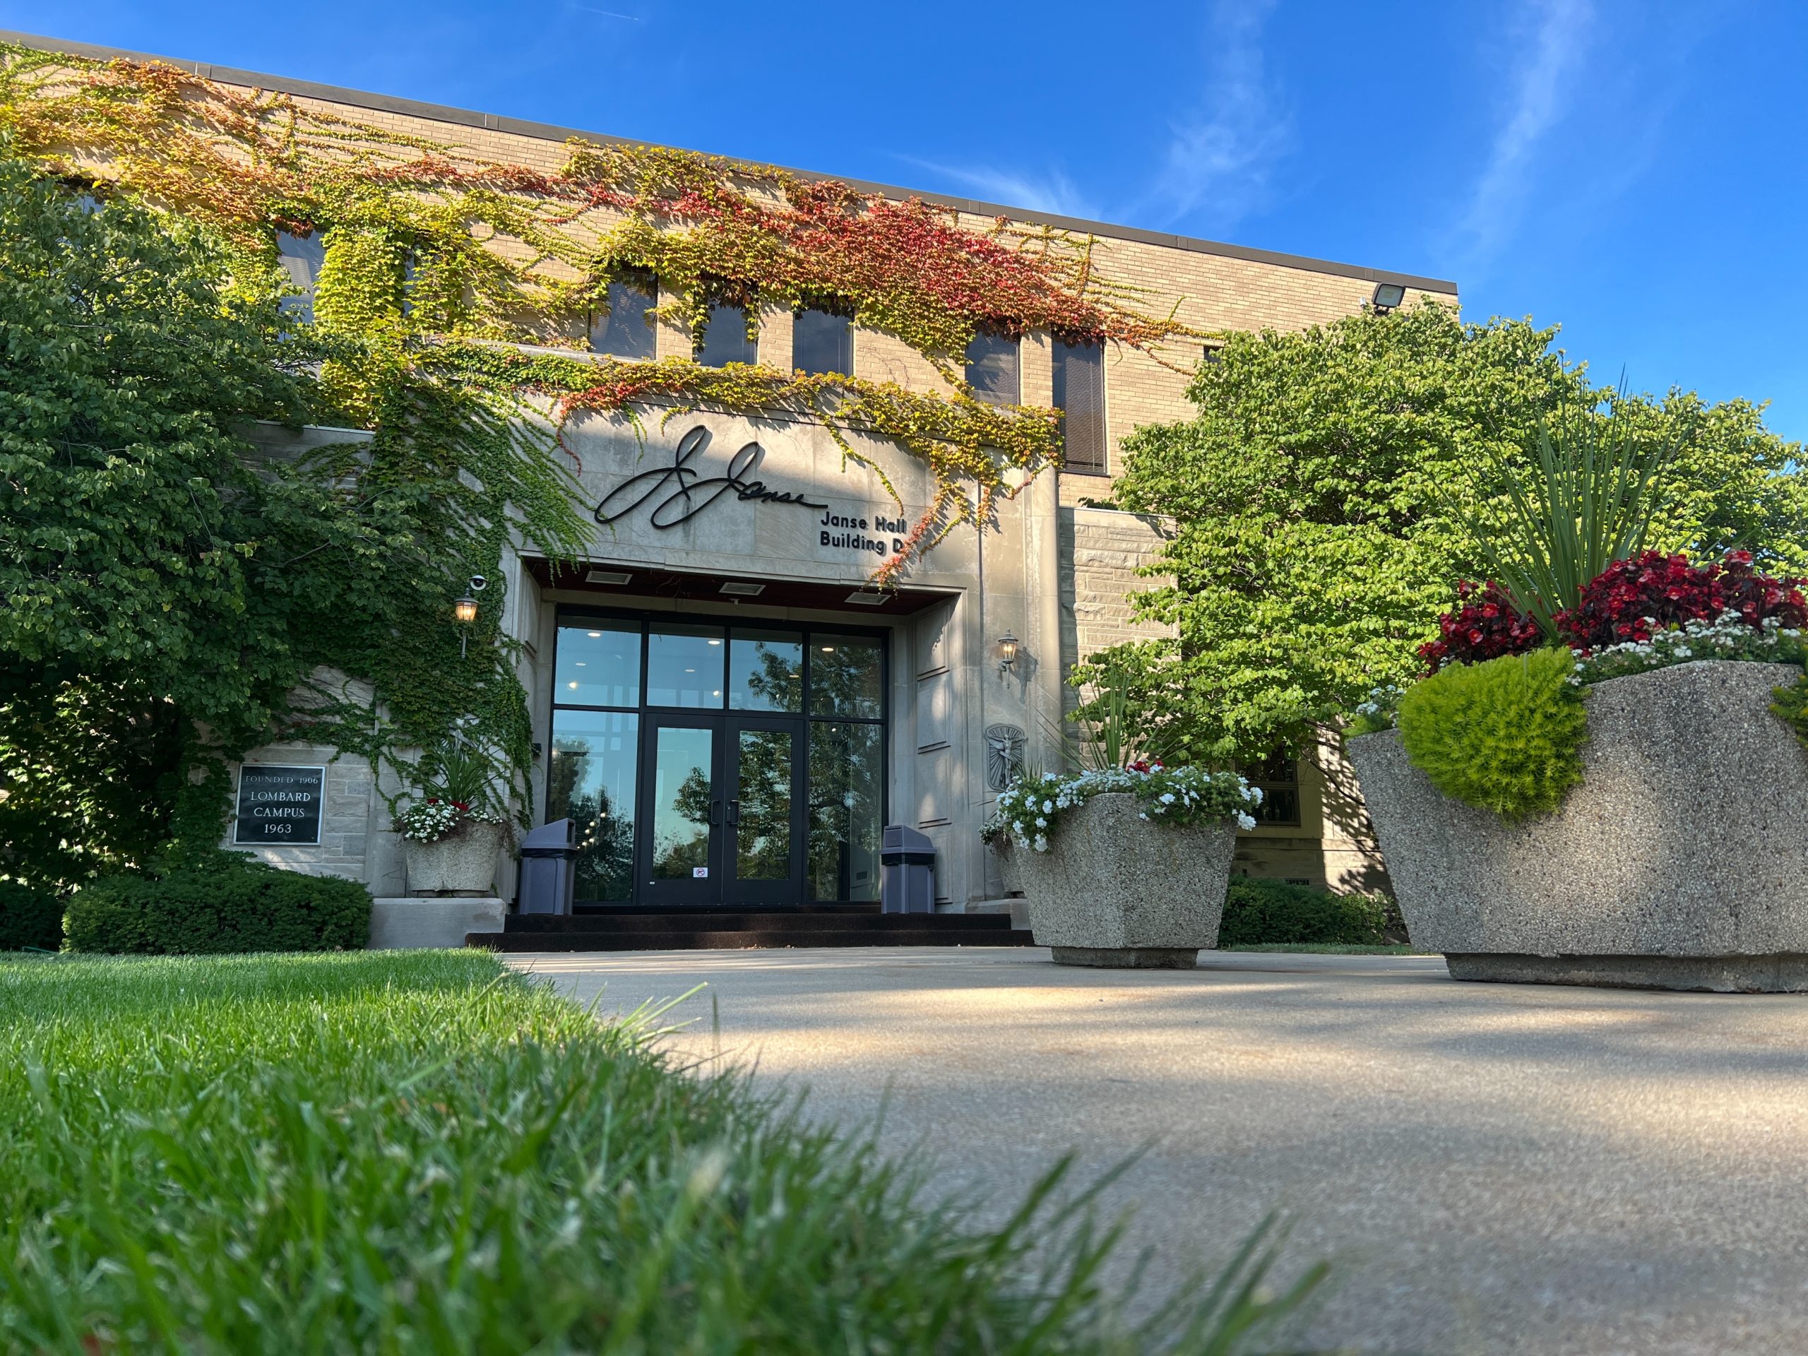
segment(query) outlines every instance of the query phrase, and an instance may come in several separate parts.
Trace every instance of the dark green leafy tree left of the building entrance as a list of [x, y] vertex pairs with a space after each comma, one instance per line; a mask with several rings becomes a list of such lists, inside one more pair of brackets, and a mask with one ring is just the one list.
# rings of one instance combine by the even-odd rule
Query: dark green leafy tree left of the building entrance
[[284, 736], [381, 759], [476, 714], [526, 765], [499, 606], [461, 654], [450, 602], [582, 524], [504, 410], [385, 358], [369, 438], [260, 452], [344, 419], [316, 371], [356, 340], [282, 309], [273, 248], [4, 155], [0, 354], [0, 877], [212, 846], [226, 759]]

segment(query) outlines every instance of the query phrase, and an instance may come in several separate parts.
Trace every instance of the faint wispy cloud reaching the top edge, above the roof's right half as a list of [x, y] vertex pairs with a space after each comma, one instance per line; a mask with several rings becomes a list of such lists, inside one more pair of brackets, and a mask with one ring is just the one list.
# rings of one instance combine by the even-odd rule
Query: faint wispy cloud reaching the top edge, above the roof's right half
[[1161, 183], [1137, 215], [1226, 231], [1269, 197], [1293, 118], [1262, 58], [1275, 0], [1219, 0], [1206, 24], [1202, 89], [1170, 127]]

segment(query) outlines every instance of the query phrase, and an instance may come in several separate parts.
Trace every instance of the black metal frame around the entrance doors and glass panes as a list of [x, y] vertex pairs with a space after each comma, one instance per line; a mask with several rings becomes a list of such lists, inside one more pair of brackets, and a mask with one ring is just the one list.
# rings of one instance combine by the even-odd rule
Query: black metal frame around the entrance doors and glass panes
[[[821, 620], [801, 620], [788, 617], [749, 617], [745, 613], [674, 613], [674, 611], [640, 611], [635, 607], [613, 607], [613, 606], [586, 606], [586, 604], [557, 604], [553, 609], [553, 660], [548, 665], [557, 673], [557, 631], [562, 626], [571, 626], [586, 618], [607, 620], [607, 622], [636, 622], [640, 627], [640, 703], [636, 707], [609, 707], [609, 705], [588, 705], [588, 703], [562, 703], [557, 700], [557, 691], [553, 692], [553, 711], [597, 711], [597, 712], [624, 712], [635, 714], [638, 718], [640, 738], [635, 767], [635, 877], [633, 877], [633, 899], [631, 900], [577, 900], [584, 908], [635, 908], [635, 906], [685, 906], [685, 908], [732, 908], [732, 909], [786, 909], [786, 908], [808, 908], [810, 904], [833, 904], [846, 900], [812, 900], [808, 899], [808, 772], [810, 772], [810, 727], [821, 721], [833, 721], [835, 718], [810, 716], [808, 709], [801, 712], [774, 712], [774, 711], [734, 711], [734, 709], [716, 709], [716, 707], [656, 707], [645, 700], [647, 694], [647, 629], [651, 626], [671, 622], [680, 626], [721, 626], [727, 629], [761, 629], [761, 631], [797, 631], [805, 636], [805, 705], [808, 707], [810, 694], [810, 636], [812, 635], [848, 635], [848, 636], [871, 636], [880, 642], [879, 645], [879, 691], [880, 691], [880, 714], [877, 721], [855, 721], [879, 725], [879, 814], [880, 823], [891, 823], [891, 631], [888, 627], [861, 626], [857, 622], [841, 624], [833, 617]], [[723, 647], [723, 664], [729, 660], [729, 645]], [[550, 674], [551, 680], [551, 674]], [[653, 853], [653, 821], [651, 821], [651, 796], [653, 796], [653, 750], [656, 730], [662, 727], [682, 727], [682, 729], [711, 729], [712, 734], [712, 768], [711, 768], [711, 848], [709, 848], [709, 877], [702, 880], [664, 880], [653, 882], [651, 879], [651, 853]], [[727, 805], [730, 799], [730, 779], [736, 777], [736, 759], [739, 749], [739, 730], [743, 729], [788, 729], [796, 730], [792, 741], [792, 871], [790, 879], [785, 882], [741, 882], [736, 880], [729, 870], [729, 861], [734, 852], [732, 830], [729, 826], [729, 817], [732, 814]], [[551, 736], [551, 730], [548, 730]], [[550, 747], [550, 738], [548, 738]], [[551, 758], [546, 759], [546, 774], [541, 786], [541, 806], [548, 806], [548, 797], [551, 794]]]

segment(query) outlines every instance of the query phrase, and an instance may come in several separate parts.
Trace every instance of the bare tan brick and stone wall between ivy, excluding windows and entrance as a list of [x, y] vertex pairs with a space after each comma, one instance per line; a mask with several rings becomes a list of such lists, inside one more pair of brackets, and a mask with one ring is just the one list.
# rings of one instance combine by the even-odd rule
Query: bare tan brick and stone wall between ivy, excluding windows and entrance
[[[146, 60], [143, 54], [81, 43], [40, 45], [101, 60], [121, 56]], [[559, 170], [568, 157], [566, 143], [571, 137], [615, 141], [571, 128], [334, 90], [204, 63], [175, 61], [175, 65], [244, 90], [286, 92], [298, 105], [329, 118], [394, 132], [398, 145], [450, 145], [472, 155], [530, 170]], [[1206, 333], [1285, 331], [1329, 322], [1358, 309], [1372, 295], [1376, 282], [1383, 280], [1405, 286], [1408, 302], [1416, 297], [1455, 302], [1454, 286], [1434, 278], [1070, 221], [937, 193], [908, 193], [882, 184], [853, 183], [853, 186], [897, 199], [922, 197], [940, 202], [955, 210], [962, 224], [978, 230], [991, 230], [998, 215], [1011, 215], [1029, 226], [1047, 224], [1076, 239], [1090, 239], [1092, 269], [1101, 282], [1119, 291], [1139, 293], [1141, 306], [1148, 313], [1172, 311], [1181, 322]], [[579, 237], [600, 233], [615, 221], [611, 210], [597, 208], [582, 213], [573, 222], [573, 231]], [[515, 259], [528, 257], [524, 244], [501, 237], [492, 240], [490, 248]], [[555, 260], [542, 260], [542, 268], [553, 275], [564, 271]], [[673, 298], [664, 295], [662, 300]], [[788, 369], [790, 315], [777, 307], [763, 307], [759, 322], [759, 362]], [[544, 342], [555, 345], [573, 340], [582, 340], [582, 333], [544, 334]], [[1125, 349], [1106, 353], [1110, 470], [1117, 468], [1121, 441], [1137, 425], [1191, 416], [1184, 391], [1204, 347], [1204, 340], [1173, 340], [1159, 353]], [[691, 336], [680, 322], [665, 320], [658, 325], [654, 353], [662, 358], [691, 353]], [[853, 333], [853, 369], [859, 378], [895, 381], [918, 391], [944, 385], [944, 376], [928, 356], [890, 334], [861, 327]], [[1020, 380], [1023, 403], [1052, 403], [1052, 351], [1047, 333], [1032, 331], [1023, 338]], [[774, 445], [786, 441], [767, 432], [783, 427], [783, 421], [758, 423], [761, 436]], [[738, 425], [732, 419], [714, 419], [714, 425], [720, 432], [730, 434], [745, 421]], [[575, 436], [600, 436], [615, 450], [627, 445], [620, 427]], [[340, 430], [309, 430], [304, 439], [340, 441]], [[286, 454], [286, 448], [293, 450], [282, 434], [260, 441], [277, 456]], [[812, 439], [799, 432], [788, 441], [801, 457], [792, 461], [792, 472], [812, 483], [821, 497], [859, 503], [873, 499], [871, 486], [864, 485], [864, 472], [843, 466], [839, 452], [826, 447], [826, 439]], [[635, 452], [638, 456], [640, 448]], [[609, 456], [588, 459], [586, 466], [615, 466], [618, 479], [626, 461], [620, 457], [611, 461]], [[904, 465], [897, 448], [879, 448], [875, 456], [891, 468], [899, 483], [917, 485], [913, 468]], [[586, 477], [586, 494], [606, 490], [602, 481], [607, 476], [602, 479], [598, 476], [600, 470]], [[944, 589], [946, 604], [895, 624], [886, 622], [893, 626], [890, 801], [899, 821], [920, 826], [937, 843], [942, 853], [937, 895], [946, 906], [962, 908], [965, 902], [1003, 893], [996, 868], [987, 864], [976, 837], [976, 826], [987, 814], [993, 796], [975, 770], [982, 761], [978, 750], [987, 723], [996, 720], [1022, 727], [1029, 756], [1043, 758], [1047, 752], [1041, 749], [1043, 729], [1049, 721], [1059, 721], [1069, 700], [1063, 682], [1067, 669], [1103, 645], [1163, 635], [1163, 627], [1132, 618], [1126, 597], [1146, 586], [1148, 580], [1137, 571], [1155, 559], [1163, 524], [1079, 503], [1085, 497], [1108, 499], [1108, 476], [1040, 477], [1000, 510], [998, 521], [985, 533], [955, 533], [933, 551], [937, 559], [926, 564], [922, 579], [915, 582]], [[911, 499], [909, 490], [906, 499]], [[913, 503], [920, 508], [922, 495], [918, 494]], [[759, 532], [767, 535], [754, 532], [750, 526], [754, 517], [749, 517], [745, 532], [734, 539], [738, 544], [694, 532], [683, 533], [683, 541], [678, 533], [669, 533], [656, 542], [624, 542], [618, 537], [598, 535], [589, 559], [593, 564], [651, 562], [667, 570], [754, 577], [779, 577], [788, 571], [788, 577], [799, 580], [841, 582], [846, 577], [852, 584], [859, 582], [859, 571], [850, 562], [824, 568], [823, 562], [808, 559], [810, 551], [794, 550], [797, 542], [785, 537], [788, 530], [785, 524], [772, 523], [770, 515], [761, 521], [765, 526]], [[779, 535], [774, 537], [772, 532]], [[510, 560], [506, 579], [495, 580], [495, 586], [506, 589], [504, 626], [523, 645], [521, 678], [544, 716], [553, 613], [559, 604], [597, 602], [597, 597], [546, 588], [523, 560]], [[665, 606], [658, 598], [647, 604]], [[676, 611], [683, 607], [683, 604], [674, 606]], [[750, 606], [747, 615], [786, 617], [788, 613], [783, 607]], [[1012, 667], [1000, 669], [994, 647], [1005, 631], [1020, 636], [1023, 649]], [[541, 730], [544, 732], [544, 721]], [[284, 745], [257, 750], [253, 761], [325, 763], [329, 768], [320, 846], [264, 848], [260, 855], [284, 866], [356, 875], [378, 895], [405, 891], [405, 868], [394, 835], [387, 828], [383, 796], [378, 794], [371, 770], [360, 759], [333, 759], [331, 750]], [[1302, 823], [1264, 826], [1246, 835], [1237, 870], [1273, 871], [1332, 884], [1351, 884], [1372, 875], [1374, 859], [1365, 841], [1360, 801], [1343, 790], [1345, 781], [1347, 770], [1329, 752], [1302, 761]], [[512, 890], [508, 862], [501, 868], [497, 888], [504, 897]]]

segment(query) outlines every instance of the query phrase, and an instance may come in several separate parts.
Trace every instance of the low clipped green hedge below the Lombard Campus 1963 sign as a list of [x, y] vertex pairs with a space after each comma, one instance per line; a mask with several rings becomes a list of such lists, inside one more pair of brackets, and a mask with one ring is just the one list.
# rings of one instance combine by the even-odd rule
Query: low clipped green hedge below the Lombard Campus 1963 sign
[[172, 870], [110, 875], [69, 902], [74, 951], [224, 955], [362, 949], [371, 891], [231, 852]]

